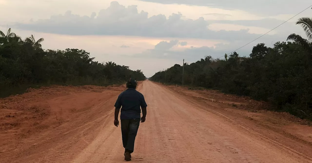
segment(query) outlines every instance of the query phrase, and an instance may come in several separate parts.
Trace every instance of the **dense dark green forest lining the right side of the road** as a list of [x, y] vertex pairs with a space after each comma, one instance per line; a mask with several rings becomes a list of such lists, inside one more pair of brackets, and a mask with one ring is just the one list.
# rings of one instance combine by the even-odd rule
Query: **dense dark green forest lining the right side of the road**
[[[276, 111], [312, 120], [312, 19], [300, 18], [297, 24], [308, 39], [291, 34], [287, 41], [293, 42], [277, 42], [272, 48], [259, 43], [249, 57], [234, 52], [223, 60], [208, 56], [185, 63], [183, 83], [264, 100]], [[176, 64], [150, 80], [182, 84], [182, 71]]]

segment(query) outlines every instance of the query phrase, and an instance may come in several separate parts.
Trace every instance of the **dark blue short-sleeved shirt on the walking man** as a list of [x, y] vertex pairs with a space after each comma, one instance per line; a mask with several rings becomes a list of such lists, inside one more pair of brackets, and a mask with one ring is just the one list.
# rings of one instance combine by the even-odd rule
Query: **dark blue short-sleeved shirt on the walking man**
[[137, 90], [129, 88], [120, 93], [115, 107], [120, 109], [120, 120], [129, 120], [133, 118], [141, 118], [141, 108], [146, 107], [144, 96]]

